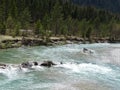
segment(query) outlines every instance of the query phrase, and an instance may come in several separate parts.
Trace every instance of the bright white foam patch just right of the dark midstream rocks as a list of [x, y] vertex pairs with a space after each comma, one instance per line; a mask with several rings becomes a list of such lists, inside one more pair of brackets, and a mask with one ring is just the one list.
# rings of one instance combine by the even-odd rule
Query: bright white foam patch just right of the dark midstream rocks
[[63, 68], [70, 69], [73, 72], [77, 72], [77, 73], [91, 72], [91, 73], [106, 74], [106, 73], [112, 72], [112, 69], [109, 67], [95, 65], [92, 63], [81, 63], [81, 64], [66, 63], [63, 65], [58, 65], [56, 67], [63, 67]]

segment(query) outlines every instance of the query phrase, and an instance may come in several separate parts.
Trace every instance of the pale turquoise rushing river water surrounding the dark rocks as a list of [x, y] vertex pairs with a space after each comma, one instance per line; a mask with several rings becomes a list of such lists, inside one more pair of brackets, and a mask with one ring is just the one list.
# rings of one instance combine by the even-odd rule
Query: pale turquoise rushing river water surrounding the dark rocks
[[[83, 53], [83, 48], [94, 53]], [[44, 60], [58, 65], [22, 71], [12, 66], [0, 69], [0, 90], [120, 90], [120, 44], [68, 44], [0, 51], [1, 63]]]

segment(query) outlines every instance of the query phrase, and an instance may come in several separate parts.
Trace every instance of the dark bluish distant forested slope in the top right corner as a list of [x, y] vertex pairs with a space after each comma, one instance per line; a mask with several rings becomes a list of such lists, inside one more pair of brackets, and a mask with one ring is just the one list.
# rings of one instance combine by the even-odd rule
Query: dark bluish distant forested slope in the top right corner
[[120, 0], [72, 0], [82, 6], [94, 6], [115, 13], [120, 13]]

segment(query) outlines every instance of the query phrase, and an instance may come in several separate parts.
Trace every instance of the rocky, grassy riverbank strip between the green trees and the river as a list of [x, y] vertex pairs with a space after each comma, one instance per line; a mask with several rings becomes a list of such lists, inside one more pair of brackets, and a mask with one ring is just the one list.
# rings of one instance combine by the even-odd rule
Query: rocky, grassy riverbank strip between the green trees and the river
[[21, 46], [40, 46], [40, 45], [64, 45], [64, 44], [72, 44], [72, 43], [119, 43], [120, 40], [110, 40], [109, 38], [92, 38], [83, 39], [75, 36], [68, 37], [50, 37], [49, 39], [42, 38], [34, 38], [34, 37], [12, 37], [12, 36], [3, 36], [0, 35], [0, 49], [7, 48], [17, 48]]

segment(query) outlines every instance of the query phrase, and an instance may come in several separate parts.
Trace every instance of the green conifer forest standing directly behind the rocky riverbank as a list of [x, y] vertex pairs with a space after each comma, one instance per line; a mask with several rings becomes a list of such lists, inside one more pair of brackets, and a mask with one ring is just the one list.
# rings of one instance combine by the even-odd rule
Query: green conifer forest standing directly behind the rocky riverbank
[[0, 0], [0, 34], [118, 39], [120, 16], [72, 0]]

